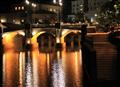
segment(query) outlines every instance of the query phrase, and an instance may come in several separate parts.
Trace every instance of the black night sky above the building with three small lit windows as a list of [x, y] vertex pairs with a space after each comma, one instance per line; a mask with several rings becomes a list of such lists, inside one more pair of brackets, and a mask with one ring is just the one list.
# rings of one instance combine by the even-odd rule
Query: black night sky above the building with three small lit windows
[[[25, 0], [0, 0], [0, 12], [5, 12], [11, 4], [24, 2]], [[29, 1], [37, 1], [37, 2], [52, 2], [52, 0], [29, 0]]]

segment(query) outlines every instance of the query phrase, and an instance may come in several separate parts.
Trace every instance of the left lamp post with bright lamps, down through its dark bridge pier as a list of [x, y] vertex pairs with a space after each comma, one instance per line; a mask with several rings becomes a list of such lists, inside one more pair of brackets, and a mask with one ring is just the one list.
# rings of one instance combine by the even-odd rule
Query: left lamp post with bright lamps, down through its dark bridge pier
[[31, 3], [29, 0], [25, 0], [26, 3], [26, 24], [25, 24], [25, 47], [26, 50], [31, 50], [31, 37], [32, 37], [32, 10], [31, 8], [36, 8], [35, 3]]

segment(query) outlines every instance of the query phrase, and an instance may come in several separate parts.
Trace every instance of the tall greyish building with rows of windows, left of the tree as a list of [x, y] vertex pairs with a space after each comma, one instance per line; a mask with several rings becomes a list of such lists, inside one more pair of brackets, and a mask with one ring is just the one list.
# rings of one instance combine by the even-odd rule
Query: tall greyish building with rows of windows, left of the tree
[[71, 1], [71, 13], [83, 13], [91, 22], [96, 21], [101, 6], [108, 0], [74, 0]]

